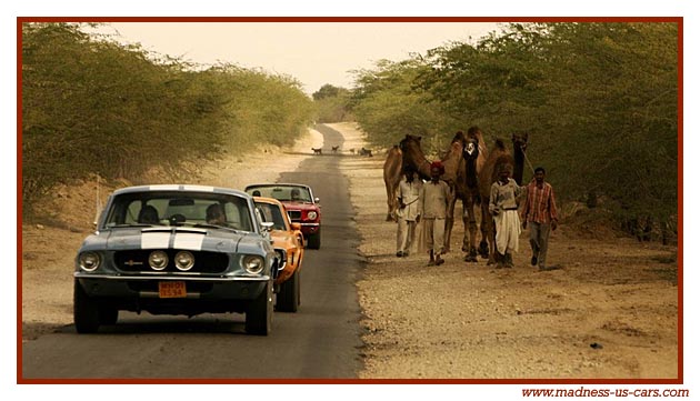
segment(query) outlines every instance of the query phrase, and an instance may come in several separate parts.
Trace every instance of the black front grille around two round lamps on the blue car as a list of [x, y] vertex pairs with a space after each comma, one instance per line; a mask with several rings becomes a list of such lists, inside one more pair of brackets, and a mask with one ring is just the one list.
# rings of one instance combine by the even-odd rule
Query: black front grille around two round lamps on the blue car
[[[153, 272], [148, 264], [148, 257], [153, 250], [130, 250], [114, 252], [114, 265], [128, 273]], [[174, 267], [174, 255], [179, 249], [164, 250], [168, 253], [168, 267], [160, 272], [180, 272]], [[223, 273], [229, 265], [229, 257], [220, 252], [190, 251], [194, 255], [194, 265], [188, 273], [217, 274]]]

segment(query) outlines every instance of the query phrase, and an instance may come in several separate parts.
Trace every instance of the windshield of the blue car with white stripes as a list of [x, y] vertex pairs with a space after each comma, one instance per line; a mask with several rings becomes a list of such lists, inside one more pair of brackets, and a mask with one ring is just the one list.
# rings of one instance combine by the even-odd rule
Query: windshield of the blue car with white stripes
[[114, 197], [106, 228], [143, 225], [221, 227], [254, 231], [248, 200], [214, 192], [143, 191]]

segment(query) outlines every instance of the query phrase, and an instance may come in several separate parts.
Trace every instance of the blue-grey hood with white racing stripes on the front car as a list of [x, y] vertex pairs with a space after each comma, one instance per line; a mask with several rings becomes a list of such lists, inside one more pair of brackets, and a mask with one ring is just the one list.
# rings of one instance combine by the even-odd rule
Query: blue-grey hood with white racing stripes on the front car
[[262, 237], [251, 232], [233, 232], [197, 228], [128, 228], [90, 235], [83, 249], [110, 251], [126, 249], [186, 249], [192, 251], [259, 253]]

